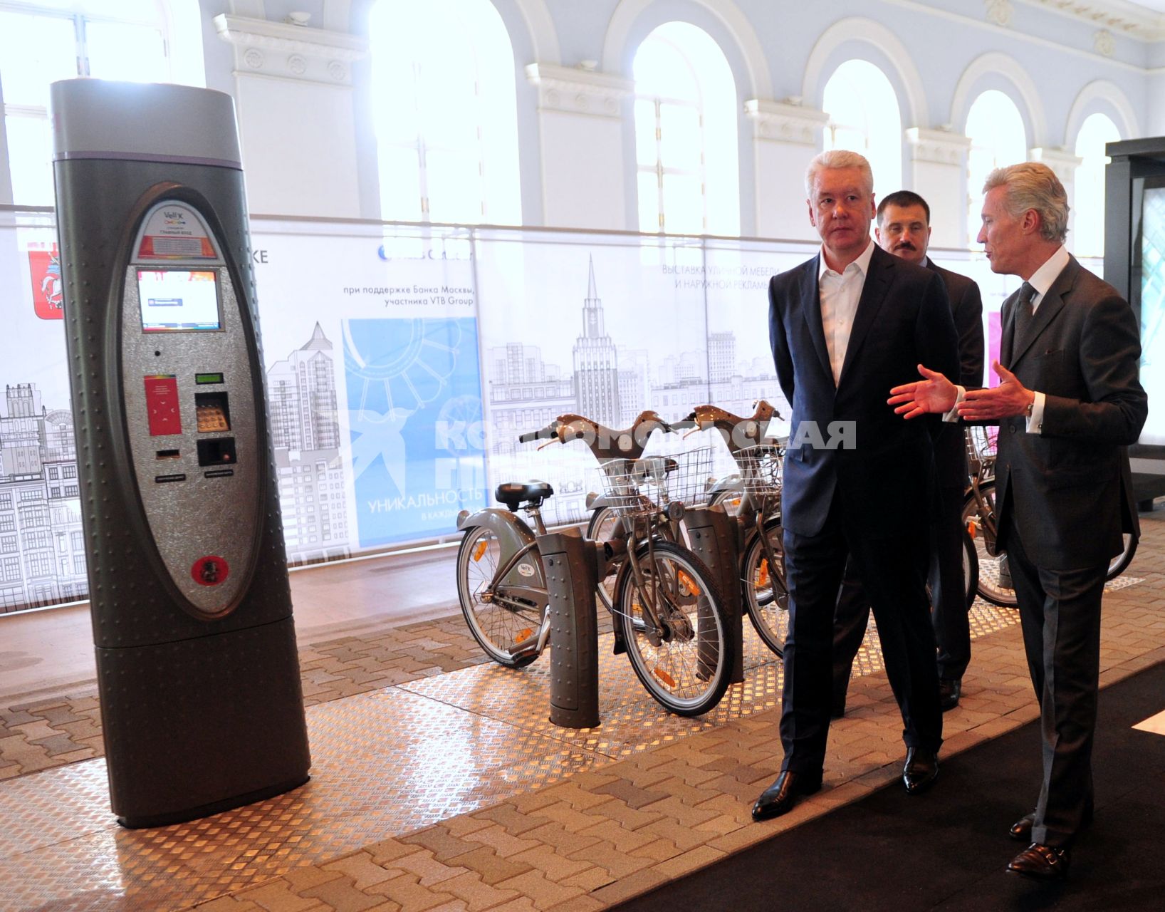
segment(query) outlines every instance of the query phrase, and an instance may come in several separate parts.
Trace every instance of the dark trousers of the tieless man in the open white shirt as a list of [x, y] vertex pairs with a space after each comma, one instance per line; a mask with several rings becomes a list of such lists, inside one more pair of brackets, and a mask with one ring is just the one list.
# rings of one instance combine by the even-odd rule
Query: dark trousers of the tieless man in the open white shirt
[[847, 555], [873, 603], [890, 688], [902, 710], [908, 748], [937, 751], [942, 743], [934, 631], [926, 599], [929, 547], [925, 520], [887, 534], [847, 521], [835, 493], [816, 535], [784, 532], [789, 633], [781, 713], [782, 769], [820, 771], [829, 731], [833, 615]]

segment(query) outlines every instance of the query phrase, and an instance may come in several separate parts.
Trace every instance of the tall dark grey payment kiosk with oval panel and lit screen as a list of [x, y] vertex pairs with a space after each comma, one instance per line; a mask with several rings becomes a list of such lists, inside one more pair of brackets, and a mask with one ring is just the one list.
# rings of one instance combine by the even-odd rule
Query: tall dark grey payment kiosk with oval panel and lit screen
[[311, 766], [234, 106], [70, 79], [51, 110], [110, 799], [163, 826]]

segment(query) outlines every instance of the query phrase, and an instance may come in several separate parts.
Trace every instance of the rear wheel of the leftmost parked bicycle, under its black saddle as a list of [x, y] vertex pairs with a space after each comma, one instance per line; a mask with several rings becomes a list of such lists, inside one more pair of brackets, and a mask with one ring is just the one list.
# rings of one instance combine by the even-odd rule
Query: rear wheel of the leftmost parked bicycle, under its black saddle
[[[482, 599], [489, 588], [494, 571], [501, 561], [501, 542], [488, 526], [474, 526], [466, 531], [457, 549], [457, 598], [469, 633], [486, 655], [507, 668], [524, 668], [538, 658], [525, 654], [515, 658], [514, 652], [530, 637], [542, 630], [546, 605], [527, 603], [528, 606], [511, 608]], [[542, 555], [537, 550], [523, 557], [535, 569], [529, 582], [546, 587], [546, 573]]]

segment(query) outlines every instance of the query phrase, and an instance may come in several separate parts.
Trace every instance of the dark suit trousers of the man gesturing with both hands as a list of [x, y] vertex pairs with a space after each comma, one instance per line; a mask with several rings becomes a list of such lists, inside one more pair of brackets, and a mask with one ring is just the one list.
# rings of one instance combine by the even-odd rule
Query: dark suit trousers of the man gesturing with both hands
[[1031, 837], [1045, 846], [1068, 846], [1092, 815], [1100, 612], [1108, 564], [1081, 570], [1037, 567], [1012, 522], [1008, 566], [1043, 741], [1044, 776]]

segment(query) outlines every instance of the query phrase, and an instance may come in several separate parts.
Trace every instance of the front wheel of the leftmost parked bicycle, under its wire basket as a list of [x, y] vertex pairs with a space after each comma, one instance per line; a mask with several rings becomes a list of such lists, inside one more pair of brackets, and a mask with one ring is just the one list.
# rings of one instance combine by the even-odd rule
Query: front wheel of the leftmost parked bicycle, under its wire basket
[[[649, 560], [649, 550], [652, 555]], [[644, 596], [630, 561], [615, 583], [615, 623], [640, 682], [661, 706], [678, 716], [699, 716], [728, 689], [735, 652], [728, 636], [723, 594], [708, 568], [686, 548], [655, 541], [636, 552], [647, 588], [665, 592], [664, 633], [651, 643]], [[652, 581], [658, 581], [652, 585]]]

